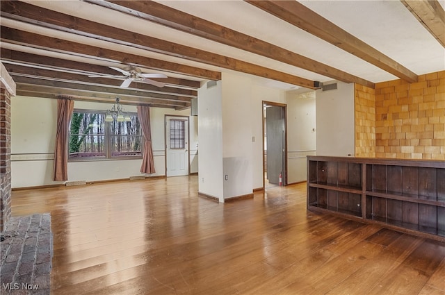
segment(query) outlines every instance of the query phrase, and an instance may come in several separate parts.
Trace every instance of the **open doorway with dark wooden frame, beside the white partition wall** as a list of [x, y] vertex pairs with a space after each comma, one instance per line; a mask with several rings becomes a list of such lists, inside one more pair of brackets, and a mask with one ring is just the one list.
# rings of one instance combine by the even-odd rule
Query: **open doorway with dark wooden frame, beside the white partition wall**
[[287, 185], [286, 105], [263, 101], [263, 112], [263, 187]]

